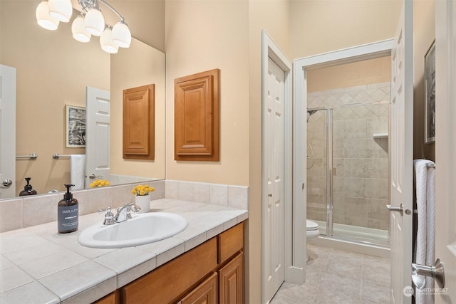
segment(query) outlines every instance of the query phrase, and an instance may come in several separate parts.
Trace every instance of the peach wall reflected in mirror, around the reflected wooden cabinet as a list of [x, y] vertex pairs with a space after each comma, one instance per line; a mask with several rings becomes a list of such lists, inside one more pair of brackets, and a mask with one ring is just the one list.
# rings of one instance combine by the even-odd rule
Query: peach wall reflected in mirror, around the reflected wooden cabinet
[[[133, 38], [111, 56], [111, 174], [165, 178], [165, 53]], [[123, 159], [123, 90], [155, 84], [155, 159]]]

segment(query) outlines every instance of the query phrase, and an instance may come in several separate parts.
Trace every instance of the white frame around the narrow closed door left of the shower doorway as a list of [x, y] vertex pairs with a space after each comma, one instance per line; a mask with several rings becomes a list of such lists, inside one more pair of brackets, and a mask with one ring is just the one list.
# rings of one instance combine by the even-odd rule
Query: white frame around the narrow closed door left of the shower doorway
[[[266, 106], [268, 58], [271, 58], [285, 72], [284, 83], [284, 271], [285, 281], [290, 283], [304, 283], [304, 243], [306, 234], [301, 228], [302, 214], [296, 209], [293, 198], [293, 104], [292, 104], [292, 65], [279, 46], [274, 43], [266, 31], [261, 31], [261, 110]], [[268, 204], [267, 177], [264, 172], [265, 154], [264, 117], [261, 114], [261, 248], [264, 252], [266, 208]], [[265, 302], [265, 271], [264, 255], [261, 255], [261, 298]]]

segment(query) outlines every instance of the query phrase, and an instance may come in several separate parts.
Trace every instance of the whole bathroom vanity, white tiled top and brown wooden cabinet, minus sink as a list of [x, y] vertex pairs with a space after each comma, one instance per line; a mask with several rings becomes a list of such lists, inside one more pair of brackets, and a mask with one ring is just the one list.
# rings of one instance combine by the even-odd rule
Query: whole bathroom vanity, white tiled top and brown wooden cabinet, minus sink
[[0, 303], [243, 303], [248, 211], [178, 199], [152, 201], [151, 210], [189, 226], [125, 248], [78, 243], [102, 214], [80, 216], [71, 234], [58, 234], [56, 222], [1, 233]]

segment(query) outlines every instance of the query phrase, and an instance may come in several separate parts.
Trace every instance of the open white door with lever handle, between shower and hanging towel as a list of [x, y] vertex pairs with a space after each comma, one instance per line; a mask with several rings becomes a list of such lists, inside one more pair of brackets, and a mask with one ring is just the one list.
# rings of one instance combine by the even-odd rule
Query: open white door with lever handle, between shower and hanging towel
[[391, 53], [390, 213], [391, 303], [410, 303], [413, 219], [413, 1], [403, 10]]

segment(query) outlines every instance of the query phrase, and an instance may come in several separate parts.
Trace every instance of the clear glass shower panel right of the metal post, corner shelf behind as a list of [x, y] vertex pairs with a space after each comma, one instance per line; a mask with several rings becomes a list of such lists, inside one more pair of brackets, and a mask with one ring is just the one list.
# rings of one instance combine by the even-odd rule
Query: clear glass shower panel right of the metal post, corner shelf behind
[[333, 235], [388, 242], [388, 103], [333, 109]]

